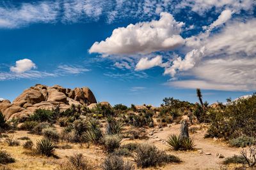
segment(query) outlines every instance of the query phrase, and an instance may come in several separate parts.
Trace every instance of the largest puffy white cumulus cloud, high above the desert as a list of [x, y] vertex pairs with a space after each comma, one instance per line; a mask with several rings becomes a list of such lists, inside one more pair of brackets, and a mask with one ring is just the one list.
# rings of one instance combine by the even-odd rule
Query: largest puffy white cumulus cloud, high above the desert
[[105, 41], [95, 42], [89, 52], [122, 55], [173, 50], [184, 43], [179, 35], [183, 25], [170, 13], [162, 12], [159, 20], [115, 29]]

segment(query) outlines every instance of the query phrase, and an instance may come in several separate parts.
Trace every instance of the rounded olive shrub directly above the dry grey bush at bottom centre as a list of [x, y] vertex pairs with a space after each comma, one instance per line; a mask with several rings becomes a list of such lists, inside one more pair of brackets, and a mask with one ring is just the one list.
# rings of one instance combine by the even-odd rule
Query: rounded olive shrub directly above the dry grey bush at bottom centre
[[114, 152], [116, 148], [119, 148], [121, 140], [117, 135], [106, 135], [102, 139], [103, 146], [108, 153]]

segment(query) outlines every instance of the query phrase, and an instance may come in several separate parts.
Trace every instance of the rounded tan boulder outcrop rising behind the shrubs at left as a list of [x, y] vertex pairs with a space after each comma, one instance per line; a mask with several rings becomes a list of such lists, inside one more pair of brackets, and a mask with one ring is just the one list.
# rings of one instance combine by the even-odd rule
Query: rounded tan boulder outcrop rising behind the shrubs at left
[[8, 100], [0, 101], [0, 111], [7, 120], [28, 117], [37, 109], [51, 110], [57, 105], [61, 110], [67, 110], [70, 105], [89, 106], [97, 103], [93, 92], [88, 87], [65, 89], [60, 85], [47, 87], [37, 84], [24, 90], [13, 103]]

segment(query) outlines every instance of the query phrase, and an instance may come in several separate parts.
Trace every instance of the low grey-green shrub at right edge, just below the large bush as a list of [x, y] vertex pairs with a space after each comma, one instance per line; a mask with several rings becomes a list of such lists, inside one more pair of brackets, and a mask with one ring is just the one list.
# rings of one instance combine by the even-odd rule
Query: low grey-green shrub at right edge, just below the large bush
[[249, 136], [239, 136], [238, 138], [230, 139], [229, 144], [231, 146], [236, 146], [236, 147], [246, 147], [250, 145], [255, 145], [256, 140], [253, 137]]

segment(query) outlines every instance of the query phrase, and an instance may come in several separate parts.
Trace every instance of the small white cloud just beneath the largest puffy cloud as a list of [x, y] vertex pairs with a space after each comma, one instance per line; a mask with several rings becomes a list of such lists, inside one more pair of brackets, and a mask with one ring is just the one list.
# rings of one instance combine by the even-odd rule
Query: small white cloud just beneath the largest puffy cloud
[[155, 66], [161, 66], [162, 64], [162, 56], [157, 55], [156, 57], [152, 59], [148, 59], [148, 57], [140, 59], [138, 64], [136, 64], [136, 71], [144, 70], [144, 69], [150, 69]]

